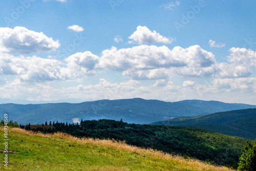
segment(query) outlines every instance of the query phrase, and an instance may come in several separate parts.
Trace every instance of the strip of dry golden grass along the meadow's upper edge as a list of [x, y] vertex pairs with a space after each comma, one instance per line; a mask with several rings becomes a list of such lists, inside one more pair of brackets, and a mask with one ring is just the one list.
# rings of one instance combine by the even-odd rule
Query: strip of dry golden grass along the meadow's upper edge
[[[3, 130], [3, 127], [0, 127], [0, 130]], [[147, 156], [150, 156], [152, 159], [166, 160], [168, 162], [181, 165], [182, 167], [185, 166], [188, 169], [193, 168], [195, 170], [225, 170], [225, 171], [234, 170], [227, 167], [210, 165], [208, 163], [205, 163], [196, 159], [185, 159], [181, 156], [166, 154], [154, 149], [145, 149], [145, 148], [129, 145], [122, 141], [106, 140], [106, 139], [101, 140], [101, 139], [93, 139], [93, 138], [77, 138], [69, 134], [59, 133], [59, 132], [54, 134], [42, 134], [40, 132], [36, 133], [36, 132], [26, 131], [24, 129], [19, 129], [19, 128], [12, 128], [10, 129], [10, 131], [14, 133], [21, 133], [21, 134], [27, 134], [27, 135], [33, 135], [33, 136], [40, 136], [40, 137], [67, 139], [67, 140], [75, 141], [81, 144], [90, 143], [90, 144], [100, 145], [100, 146], [104, 146], [111, 149], [118, 149], [120, 151], [147, 155]], [[93, 170], [104, 170], [104, 169], [105, 168], [103, 167], [98, 167]], [[112, 168], [110, 170], [118, 170], [118, 168]]]

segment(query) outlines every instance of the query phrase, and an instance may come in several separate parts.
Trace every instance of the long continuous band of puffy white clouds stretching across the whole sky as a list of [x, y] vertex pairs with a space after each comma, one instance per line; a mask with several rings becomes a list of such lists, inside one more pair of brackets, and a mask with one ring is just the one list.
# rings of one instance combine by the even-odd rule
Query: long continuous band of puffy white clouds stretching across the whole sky
[[[102, 51], [100, 57], [90, 51], [73, 54], [65, 59], [66, 63], [37, 56], [1, 54], [0, 74], [16, 75], [23, 81], [32, 79], [47, 81], [77, 79], [94, 75], [99, 70], [111, 70], [122, 72], [123, 76], [133, 80], [157, 80], [154, 87], [164, 86], [166, 83], [164, 80], [172, 76], [183, 78], [249, 77], [252, 72], [246, 62], [252, 61], [253, 63], [254, 52], [243, 50], [246, 53], [241, 57], [236, 49], [230, 49], [230, 51], [232, 52], [228, 56], [230, 63], [216, 62], [212, 53], [201, 49], [198, 45], [185, 49], [174, 47], [172, 50], [166, 46], [153, 45], [119, 50], [112, 47]], [[247, 53], [252, 53], [251, 57], [248, 57], [250, 55]], [[183, 86], [188, 86], [188, 82], [184, 82]]]

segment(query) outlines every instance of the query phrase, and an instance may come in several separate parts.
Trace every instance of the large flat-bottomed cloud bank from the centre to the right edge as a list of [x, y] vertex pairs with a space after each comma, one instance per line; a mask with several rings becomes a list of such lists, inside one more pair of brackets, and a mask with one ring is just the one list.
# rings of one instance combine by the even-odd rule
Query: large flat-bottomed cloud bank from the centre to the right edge
[[235, 49], [230, 50], [230, 63], [218, 63], [211, 52], [201, 49], [198, 45], [185, 49], [174, 47], [172, 50], [166, 46], [153, 45], [119, 50], [112, 47], [102, 51], [97, 68], [120, 71], [123, 76], [132, 79], [166, 79], [172, 75], [184, 78], [250, 76], [252, 72], [246, 62], [250, 62], [251, 66], [255, 65], [256, 55], [249, 50], [242, 56], [237, 51], [233, 53], [234, 51]]

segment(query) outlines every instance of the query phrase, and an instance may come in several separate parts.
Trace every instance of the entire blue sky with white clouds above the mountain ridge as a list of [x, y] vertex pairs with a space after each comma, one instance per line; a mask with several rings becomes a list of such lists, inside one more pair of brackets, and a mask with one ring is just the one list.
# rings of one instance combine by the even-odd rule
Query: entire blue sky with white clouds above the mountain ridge
[[0, 98], [256, 104], [255, 1], [1, 1]]

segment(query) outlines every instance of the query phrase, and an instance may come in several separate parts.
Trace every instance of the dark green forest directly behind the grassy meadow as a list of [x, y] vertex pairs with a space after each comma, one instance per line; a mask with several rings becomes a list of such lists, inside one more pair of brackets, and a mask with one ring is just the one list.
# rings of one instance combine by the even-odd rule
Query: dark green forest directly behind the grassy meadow
[[57, 121], [21, 127], [44, 133], [64, 132], [77, 137], [115, 139], [139, 147], [158, 149], [233, 168], [238, 167], [239, 158], [246, 145], [244, 138], [193, 127], [129, 124], [122, 120], [81, 120], [80, 124]]

